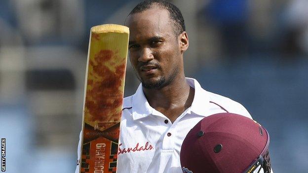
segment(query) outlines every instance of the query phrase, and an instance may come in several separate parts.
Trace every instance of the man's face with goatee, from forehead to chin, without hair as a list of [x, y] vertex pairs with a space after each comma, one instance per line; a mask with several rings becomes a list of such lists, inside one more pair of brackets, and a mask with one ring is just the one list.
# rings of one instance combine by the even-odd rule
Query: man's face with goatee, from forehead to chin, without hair
[[180, 43], [169, 12], [153, 7], [128, 17], [129, 57], [143, 87], [160, 89], [183, 70]]

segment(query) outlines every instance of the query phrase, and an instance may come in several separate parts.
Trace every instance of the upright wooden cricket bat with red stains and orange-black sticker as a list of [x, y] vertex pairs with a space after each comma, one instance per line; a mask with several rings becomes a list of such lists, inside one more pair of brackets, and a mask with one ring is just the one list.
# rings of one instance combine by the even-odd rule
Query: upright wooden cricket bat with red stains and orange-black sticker
[[128, 38], [125, 26], [91, 28], [79, 173], [116, 173]]

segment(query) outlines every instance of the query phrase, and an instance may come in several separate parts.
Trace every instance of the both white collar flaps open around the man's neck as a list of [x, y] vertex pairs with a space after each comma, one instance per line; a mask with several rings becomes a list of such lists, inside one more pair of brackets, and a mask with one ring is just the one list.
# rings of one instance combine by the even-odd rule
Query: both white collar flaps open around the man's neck
[[[209, 96], [207, 92], [200, 86], [197, 80], [187, 77], [186, 81], [192, 88], [194, 88], [194, 97], [192, 106], [189, 108], [189, 111], [192, 111], [193, 113], [201, 116], [205, 116], [209, 107]], [[156, 114], [155, 112], [155, 109], [151, 107], [147, 101], [142, 90], [142, 85], [140, 84], [132, 99], [133, 120], [147, 117], [150, 114]]]

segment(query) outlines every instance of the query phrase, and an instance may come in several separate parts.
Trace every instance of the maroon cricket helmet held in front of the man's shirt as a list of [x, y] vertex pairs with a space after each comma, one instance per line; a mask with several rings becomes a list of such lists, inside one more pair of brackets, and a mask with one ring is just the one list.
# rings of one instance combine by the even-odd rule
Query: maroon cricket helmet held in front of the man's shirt
[[[256, 121], [233, 113], [203, 118], [181, 148], [184, 173], [270, 172], [269, 133]], [[261, 167], [261, 168], [260, 168]]]

